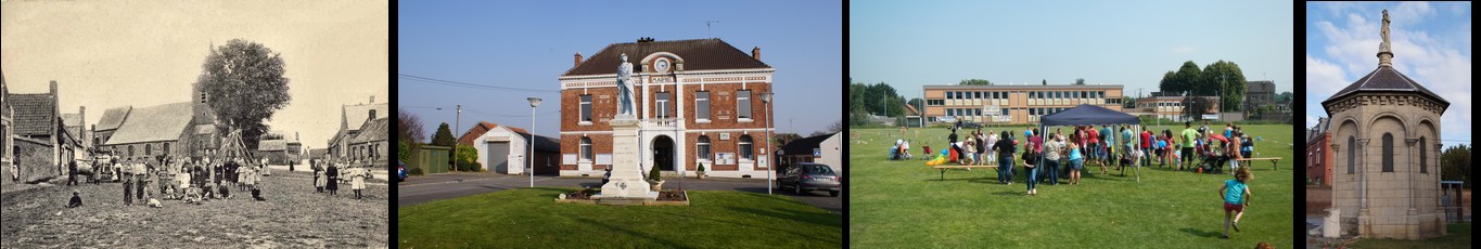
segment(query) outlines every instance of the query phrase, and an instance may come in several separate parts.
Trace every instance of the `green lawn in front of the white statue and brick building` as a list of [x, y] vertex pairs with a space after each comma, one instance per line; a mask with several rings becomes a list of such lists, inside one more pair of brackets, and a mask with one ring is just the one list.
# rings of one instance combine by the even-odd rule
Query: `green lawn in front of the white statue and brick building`
[[843, 216], [786, 196], [689, 191], [692, 206], [555, 203], [520, 188], [403, 206], [398, 248], [841, 248]]

